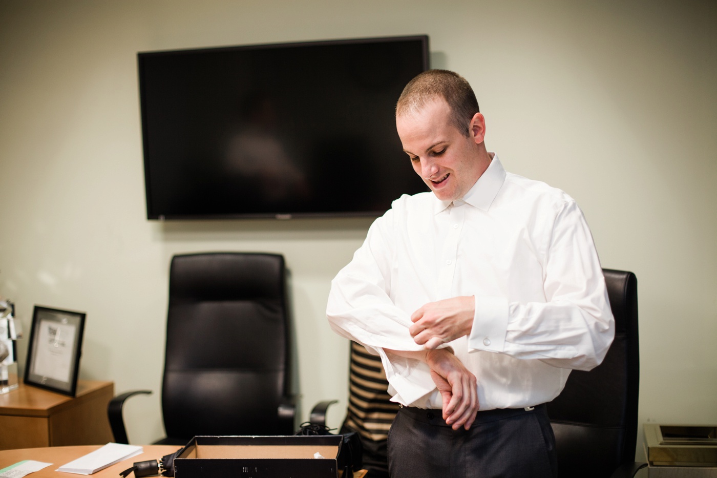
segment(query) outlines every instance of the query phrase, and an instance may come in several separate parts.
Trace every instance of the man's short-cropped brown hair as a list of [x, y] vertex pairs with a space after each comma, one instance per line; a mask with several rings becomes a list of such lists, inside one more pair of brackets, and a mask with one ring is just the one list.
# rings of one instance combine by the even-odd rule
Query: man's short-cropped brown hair
[[473, 88], [461, 75], [449, 70], [427, 70], [409, 81], [396, 103], [396, 116], [417, 113], [426, 103], [443, 98], [451, 109], [451, 122], [468, 136], [470, 120], [478, 113]]

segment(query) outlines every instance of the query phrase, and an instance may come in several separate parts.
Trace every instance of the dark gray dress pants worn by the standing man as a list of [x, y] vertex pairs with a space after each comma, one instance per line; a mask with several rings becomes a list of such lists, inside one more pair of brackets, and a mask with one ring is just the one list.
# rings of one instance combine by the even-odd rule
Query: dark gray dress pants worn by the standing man
[[399, 409], [389, 431], [391, 478], [556, 478], [546, 406], [478, 412], [453, 430], [440, 410]]

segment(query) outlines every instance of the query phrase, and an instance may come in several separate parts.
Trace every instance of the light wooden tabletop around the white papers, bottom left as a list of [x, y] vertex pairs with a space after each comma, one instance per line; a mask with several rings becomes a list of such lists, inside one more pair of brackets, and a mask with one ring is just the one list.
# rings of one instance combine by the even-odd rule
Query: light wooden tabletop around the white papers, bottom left
[[[81, 474], [61, 473], [55, 470], [62, 467], [65, 463], [70, 463], [74, 459], [80, 458], [82, 455], [90, 453], [100, 448], [100, 445], [90, 446], [53, 446], [51, 448], [29, 448], [22, 450], [4, 450], [0, 451], [0, 469], [9, 467], [22, 460], [43, 461], [44, 463], [52, 463], [49, 467], [41, 469], [39, 472], [33, 472], [28, 478], [47, 478], [47, 477], [82, 477]], [[133, 456], [125, 461], [120, 461], [111, 467], [100, 470], [90, 475], [91, 477], [113, 477], [117, 478], [120, 472], [128, 469], [135, 461], [156, 460], [164, 455], [174, 453], [181, 446], [176, 445], [145, 445], [144, 452], [141, 455]], [[134, 477], [134, 474], [131, 475]]]

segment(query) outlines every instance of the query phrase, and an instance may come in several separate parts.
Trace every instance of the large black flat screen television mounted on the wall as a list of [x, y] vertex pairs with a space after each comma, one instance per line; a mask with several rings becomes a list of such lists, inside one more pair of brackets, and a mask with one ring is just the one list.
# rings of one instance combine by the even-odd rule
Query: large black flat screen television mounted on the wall
[[138, 53], [147, 217], [380, 215], [427, 191], [394, 107], [428, 37]]

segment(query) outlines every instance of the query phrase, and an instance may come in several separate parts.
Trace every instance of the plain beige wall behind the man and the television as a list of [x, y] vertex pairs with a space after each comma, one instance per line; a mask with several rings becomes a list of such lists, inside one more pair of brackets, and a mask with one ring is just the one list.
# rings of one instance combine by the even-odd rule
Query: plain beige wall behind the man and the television
[[[302, 418], [341, 398], [337, 426], [347, 345], [323, 310], [370, 220], [147, 221], [136, 53], [425, 33], [489, 149], [573, 195], [603, 266], [637, 273], [640, 422], [717, 423], [716, 20], [711, 1], [0, 0], [0, 295], [27, 330], [33, 304], [87, 311], [82, 378], [158, 391], [171, 256], [283, 253]], [[131, 400], [130, 440], [159, 413]]]

